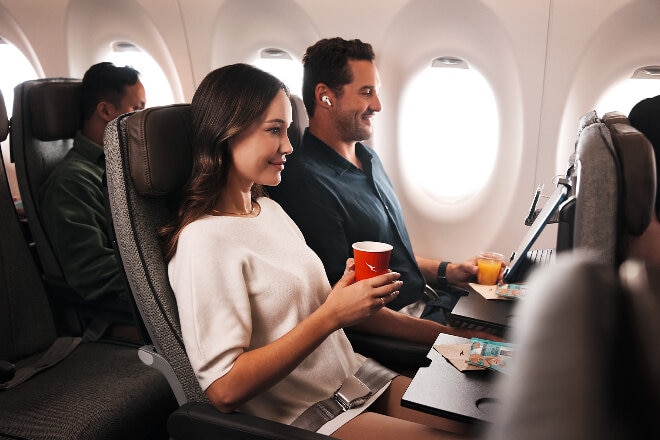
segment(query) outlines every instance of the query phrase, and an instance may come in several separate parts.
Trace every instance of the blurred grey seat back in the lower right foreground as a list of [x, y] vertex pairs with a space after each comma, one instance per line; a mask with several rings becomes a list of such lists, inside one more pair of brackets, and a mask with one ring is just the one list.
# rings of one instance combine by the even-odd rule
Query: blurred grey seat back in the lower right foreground
[[516, 362], [497, 378], [500, 405], [484, 438], [623, 439], [654, 429], [658, 274], [580, 252], [534, 274], [535, 295], [519, 305], [511, 335]]

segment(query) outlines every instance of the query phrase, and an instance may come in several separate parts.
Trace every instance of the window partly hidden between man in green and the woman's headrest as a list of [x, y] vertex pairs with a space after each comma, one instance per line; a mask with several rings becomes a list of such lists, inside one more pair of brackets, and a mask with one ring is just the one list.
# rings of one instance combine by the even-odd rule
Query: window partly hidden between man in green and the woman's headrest
[[174, 103], [174, 94], [163, 69], [147, 52], [132, 43], [116, 42], [108, 61], [117, 66], [131, 66], [140, 72], [140, 81], [147, 95], [147, 107]]

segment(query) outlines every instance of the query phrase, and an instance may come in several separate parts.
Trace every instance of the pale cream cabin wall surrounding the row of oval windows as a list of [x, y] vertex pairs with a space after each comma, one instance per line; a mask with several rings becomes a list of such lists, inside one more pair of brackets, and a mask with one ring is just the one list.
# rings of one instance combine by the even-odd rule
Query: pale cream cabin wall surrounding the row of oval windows
[[[384, 107], [369, 143], [392, 177], [416, 252], [451, 260], [515, 247], [534, 188], [551, 192], [565, 171], [580, 115], [632, 67], [660, 64], [658, 18], [658, 0], [0, 0], [0, 35], [40, 76], [80, 77], [101, 61], [99, 47], [129, 40], [160, 63], [177, 102], [189, 102], [212, 69], [249, 62], [264, 47], [300, 60], [324, 37], [372, 43]], [[409, 200], [397, 125], [409, 78], [451, 54], [468, 57], [493, 85], [502, 150], [478, 203], [438, 220]], [[478, 119], [475, 109], [476, 129]], [[555, 233], [548, 228], [536, 247], [553, 246]]]

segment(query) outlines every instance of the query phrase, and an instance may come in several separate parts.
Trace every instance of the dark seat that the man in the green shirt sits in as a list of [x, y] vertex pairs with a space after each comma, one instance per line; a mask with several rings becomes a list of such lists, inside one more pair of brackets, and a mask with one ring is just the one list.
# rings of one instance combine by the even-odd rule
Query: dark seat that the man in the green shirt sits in
[[[128, 304], [110, 299], [85, 300], [69, 284], [46, 233], [38, 196], [48, 175], [73, 146], [82, 127], [81, 80], [43, 78], [25, 81], [14, 90], [11, 152], [29, 231], [42, 276], [56, 311], [56, 325], [79, 333], [94, 322], [134, 324]], [[99, 331], [101, 333], [101, 331]]]

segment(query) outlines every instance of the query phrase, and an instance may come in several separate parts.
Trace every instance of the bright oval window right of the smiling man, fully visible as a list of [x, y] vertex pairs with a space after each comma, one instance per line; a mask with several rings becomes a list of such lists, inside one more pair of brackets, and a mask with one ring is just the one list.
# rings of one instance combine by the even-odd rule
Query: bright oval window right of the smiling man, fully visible
[[499, 115], [490, 85], [465, 61], [438, 58], [409, 82], [400, 127], [404, 178], [432, 201], [466, 201], [488, 182]]

